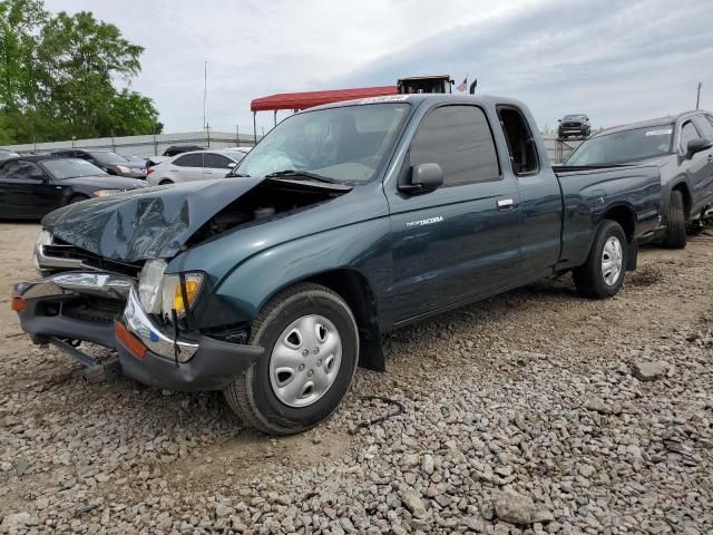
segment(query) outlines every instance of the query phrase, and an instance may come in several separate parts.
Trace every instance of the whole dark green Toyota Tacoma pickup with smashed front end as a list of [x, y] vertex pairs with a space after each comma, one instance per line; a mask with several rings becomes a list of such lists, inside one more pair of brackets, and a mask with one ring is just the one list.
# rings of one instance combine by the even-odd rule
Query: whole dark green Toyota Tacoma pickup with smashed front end
[[307, 109], [238, 172], [48, 215], [48, 276], [13, 288], [22, 329], [88, 378], [224, 390], [246, 425], [293, 434], [358, 363], [384, 369], [383, 332], [569, 271], [582, 295], [616, 294], [658, 220], [655, 166], [556, 174], [527, 107], [497, 97]]

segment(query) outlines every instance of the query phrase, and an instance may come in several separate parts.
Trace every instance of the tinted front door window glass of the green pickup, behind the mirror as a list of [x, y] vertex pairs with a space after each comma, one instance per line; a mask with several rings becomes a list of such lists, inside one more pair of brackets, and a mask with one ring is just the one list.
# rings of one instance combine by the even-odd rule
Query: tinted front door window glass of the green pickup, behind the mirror
[[476, 106], [441, 106], [430, 111], [411, 142], [409, 163], [440, 165], [443, 187], [501, 178], [490, 125]]

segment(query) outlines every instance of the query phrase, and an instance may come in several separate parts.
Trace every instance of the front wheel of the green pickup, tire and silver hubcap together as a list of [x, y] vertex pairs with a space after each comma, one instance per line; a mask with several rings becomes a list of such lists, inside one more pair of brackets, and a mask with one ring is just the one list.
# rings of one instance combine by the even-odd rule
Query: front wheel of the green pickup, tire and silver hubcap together
[[[310, 329], [302, 329], [302, 325], [310, 327], [311, 321], [316, 321], [312, 325], [312, 339]], [[324, 334], [320, 334], [322, 329]], [[324, 335], [325, 342], [320, 341], [320, 335]], [[341, 341], [340, 357], [335, 349], [330, 354], [322, 353], [324, 357], [320, 359], [320, 353], [312, 350], [313, 344], [328, 347], [328, 342], [334, 341]], [[275, 295], [253, 321], [250, 343], [265, 348], [265, 354], [235, 378], [223, 393], [245, 425], [271, 435], [302, 432], [328, 418], [349, 391], [359, 361], [354, 315], [342, 298], [320, 284], [300, 283]], [[279, 366], [279, 343], [290, 356], [289, 366]], [[304, 356], [307, 351], [304, 346], [312, 350], [307, 356]], [[300, 358], [305, 360], [302, 362]], [[331, 379], [325, 371], [328, 366], [333, 370]], [[307, 373], [315, 379], [311, 390]], [[329, 382], [322, 392], [318, 377]], [[297, 381], [294, 383], [295, 391], [300, 392], [296, 396], [287, 395], [293, 381]]]

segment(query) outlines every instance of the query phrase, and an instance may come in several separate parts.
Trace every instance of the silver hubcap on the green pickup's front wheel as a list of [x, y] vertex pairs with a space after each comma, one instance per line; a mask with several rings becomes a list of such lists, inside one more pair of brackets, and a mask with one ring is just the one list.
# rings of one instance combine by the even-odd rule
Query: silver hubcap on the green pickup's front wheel
[[334, 323], [319, 314], [293, 321], [270, 356], [270, 383], [290, 407], [314, 403], [334, 383], [342, 361], [342, 339]]

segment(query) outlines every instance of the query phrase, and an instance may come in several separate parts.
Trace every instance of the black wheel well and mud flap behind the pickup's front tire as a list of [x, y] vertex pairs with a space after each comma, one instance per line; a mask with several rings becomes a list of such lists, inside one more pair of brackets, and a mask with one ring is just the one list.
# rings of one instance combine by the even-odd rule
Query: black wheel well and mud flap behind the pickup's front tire
[[364, 275], [354, 270], [335, 270], [307, 279], [305, 282], [322, 284], [349, 304], [359, 329], [359, 366], [385, 371], [377, 300]]

